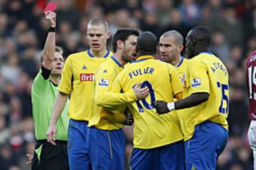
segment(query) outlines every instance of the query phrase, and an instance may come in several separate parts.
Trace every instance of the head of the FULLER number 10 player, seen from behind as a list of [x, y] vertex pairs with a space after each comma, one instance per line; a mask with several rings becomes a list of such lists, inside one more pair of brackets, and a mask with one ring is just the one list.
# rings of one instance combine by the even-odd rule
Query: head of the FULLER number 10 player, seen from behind
[[151, 32], [143, 32], [137, 39], [137, 49], [139, 54], [154, 55], [158, 40]]

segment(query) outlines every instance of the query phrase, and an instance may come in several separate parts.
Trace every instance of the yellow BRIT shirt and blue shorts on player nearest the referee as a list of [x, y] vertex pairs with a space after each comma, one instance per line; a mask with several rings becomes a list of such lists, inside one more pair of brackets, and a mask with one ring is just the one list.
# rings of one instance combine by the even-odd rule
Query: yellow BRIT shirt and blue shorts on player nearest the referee
[[[94, 57], [90, 50], [71, 54], [65, 61], [58, 87], [60, 92], [71, 94], [68, 115], [68, 159], [70, 169], [89, 167], [86, 132], [92, 107], [94, 72], [112, 55]], [[79, 152], [78, 152], [79, 151]], [[87, 156], [86, 156], [87, 155]]]

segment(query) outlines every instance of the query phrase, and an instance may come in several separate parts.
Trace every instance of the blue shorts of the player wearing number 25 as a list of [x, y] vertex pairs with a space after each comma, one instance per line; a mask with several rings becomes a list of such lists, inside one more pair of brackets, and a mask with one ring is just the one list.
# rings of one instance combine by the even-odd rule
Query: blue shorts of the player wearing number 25
[[228, 130], [206, 121], [196, 125], [194, 135], [185, 142], [186, 169], [216, 169], [217, 159], [228, 141]]

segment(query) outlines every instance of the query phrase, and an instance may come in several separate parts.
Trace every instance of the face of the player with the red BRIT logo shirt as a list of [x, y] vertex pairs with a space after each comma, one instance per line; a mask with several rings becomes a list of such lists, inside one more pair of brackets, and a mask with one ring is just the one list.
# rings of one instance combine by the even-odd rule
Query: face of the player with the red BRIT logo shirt
[[87, 38], [89, 40], [90, 48], [93, 51], [105, 50], [109, 36], [110, 33], [102, 24], [89, 25], [87, 27]]

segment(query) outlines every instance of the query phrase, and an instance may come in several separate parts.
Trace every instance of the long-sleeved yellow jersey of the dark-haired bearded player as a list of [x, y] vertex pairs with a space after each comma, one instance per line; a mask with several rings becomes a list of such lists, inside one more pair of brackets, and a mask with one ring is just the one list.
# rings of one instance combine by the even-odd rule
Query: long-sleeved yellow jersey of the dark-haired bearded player
[[[115, 130], [124, 127], [124, 125], [120, 123], [110, 123], [103, 119], [102, 117], [104, 117], [104, 114], [108, 114], [108, 111], [105, 110], [104, 107], [97, 106], [97, 104], [105, 107], [114, 105], [117, 107], [112, 107], [111, 111], [114, 112], [114, 114], [123, 114], [125, 107], [118, 105], [122, 104], [119, 103], [119, 101], [124, 101], [122, 100], [122, 96], [127, 93], [119, 94], [110, 92], [113, 81], [122, 70], [123, 68], [121, 64], [111, 56], [108, 60], [102, 63], [99, 69], [95, 72], [92, 94], [92, 112], [90, 114], [88, 127], [95, 126], [98, 129], [104, 130]], [[128, 93], [127, 98], [133, 101], [137, 100], [135, 94], [131, 91]], [[129, 99], [127, 99], [127, 101], [129, 101]]]

